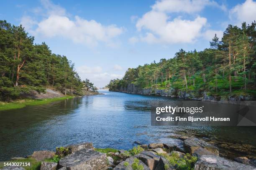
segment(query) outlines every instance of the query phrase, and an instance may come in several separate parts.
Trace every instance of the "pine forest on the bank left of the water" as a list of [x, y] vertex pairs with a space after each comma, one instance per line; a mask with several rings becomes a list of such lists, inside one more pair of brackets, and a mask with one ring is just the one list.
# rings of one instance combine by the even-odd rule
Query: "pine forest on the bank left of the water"
[[45, 92], [47, 87], [65, 95], [97, 90], [89, 80], [81, 80], [66, 56], [53, 54], [45, 42], [33, 41], [22, 25], [0, 20], [0, 100], [16, 99], [31, 90]]

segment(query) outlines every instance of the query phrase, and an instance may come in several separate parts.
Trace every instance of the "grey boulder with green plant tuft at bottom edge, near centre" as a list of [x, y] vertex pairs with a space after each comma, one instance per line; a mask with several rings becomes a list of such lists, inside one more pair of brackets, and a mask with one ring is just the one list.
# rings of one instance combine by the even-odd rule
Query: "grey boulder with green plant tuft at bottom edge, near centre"
[[[138, 159], [138, 158], [136, 156], [127, 158], [125, 161], [122, 161], [121, 163], [119, 163], [113, 170], [133, 170], [131, 165], [134, 163], [135, 159]], [[149, 170], [147, 165], [145, 165], [141, 160], [139, 160], [138, 165], [142, 165], [143, 170]]]

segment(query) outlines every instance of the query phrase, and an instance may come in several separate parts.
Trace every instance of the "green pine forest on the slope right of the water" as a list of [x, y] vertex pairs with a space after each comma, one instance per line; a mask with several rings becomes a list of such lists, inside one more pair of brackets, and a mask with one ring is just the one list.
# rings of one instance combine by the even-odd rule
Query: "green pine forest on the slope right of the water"
[[213, 35], [203, 51], [180, 49], [170, 59], [128, 68], [122, 79], [111, 80], [110, 90], [129, 83], [140, 88], [175, 88], [210, 95], [256, 95], [256, 22], [228, 25], [220, 40]]

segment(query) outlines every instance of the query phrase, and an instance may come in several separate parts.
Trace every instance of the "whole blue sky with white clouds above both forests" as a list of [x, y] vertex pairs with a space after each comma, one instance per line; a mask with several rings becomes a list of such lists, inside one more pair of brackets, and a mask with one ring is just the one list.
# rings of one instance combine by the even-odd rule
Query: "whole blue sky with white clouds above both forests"
[[22, 24], [104, 87], [129, 67], [208, 48], [228, 24], [256, 20], [255, 9], [253, 0], [2, 0], [0, 20]]

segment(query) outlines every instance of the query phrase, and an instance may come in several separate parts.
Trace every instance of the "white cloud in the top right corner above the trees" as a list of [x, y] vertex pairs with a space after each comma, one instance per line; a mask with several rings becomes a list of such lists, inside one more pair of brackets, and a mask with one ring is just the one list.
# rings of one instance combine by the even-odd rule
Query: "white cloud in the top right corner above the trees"
[[230, 10], [229, 17], [239, 26], [244, 21], [251, 24], [253, 20], [256, 20], [256, 2], [246, 0], [243, 4], [236, 5]]

